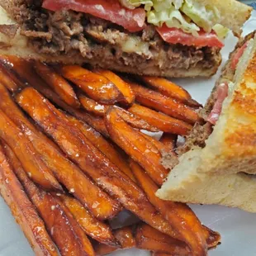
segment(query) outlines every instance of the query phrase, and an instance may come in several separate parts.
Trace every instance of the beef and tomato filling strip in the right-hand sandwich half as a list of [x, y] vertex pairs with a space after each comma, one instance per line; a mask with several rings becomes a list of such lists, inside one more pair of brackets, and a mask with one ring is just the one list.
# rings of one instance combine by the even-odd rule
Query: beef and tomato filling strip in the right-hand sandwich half
[[235, 71], [239, 59], [244, 54], [248, 41], [254, 39], [255, 33], [256, 32], [254, 31], [246, 36], [244, 40], [240, 40], [238, 45], [236, 45], [235, 50], [230, 54], [230, 60], [222, 69], [221, 76], [211, 92], [211, 97], [209, 97], [206, 102], [206, 106], [200, 111], [201, 123], [197, 123], [194, 126], [191, 134], [187, 136], [185, 145], [178, 149], [178, 154], [186, 153], [195, 146], [201, 148], [206, 146], [206, 140], [210, 137], [213, 127], [219, 119], [222, 104], [225, 101], [225, 98], [228, 97], [229, 84], [234, 82]]

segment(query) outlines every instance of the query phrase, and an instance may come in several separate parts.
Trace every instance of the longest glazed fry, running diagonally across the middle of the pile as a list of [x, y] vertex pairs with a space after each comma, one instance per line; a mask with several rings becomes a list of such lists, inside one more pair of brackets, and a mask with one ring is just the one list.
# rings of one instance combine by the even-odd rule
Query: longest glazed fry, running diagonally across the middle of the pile
[[140, 187], [96, 149], [81, 130], [73, 126], [39, 92], [26, 88], [17, 94], [17, 102], [99, 187], [149, 225], [168, 235], [176, 235], [168, 221], [149, 203]]

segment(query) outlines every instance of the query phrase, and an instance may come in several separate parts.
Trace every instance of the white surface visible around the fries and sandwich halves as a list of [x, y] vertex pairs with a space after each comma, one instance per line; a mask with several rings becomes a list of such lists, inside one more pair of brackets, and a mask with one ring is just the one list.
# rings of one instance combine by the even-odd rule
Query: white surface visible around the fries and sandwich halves
[[[244, 35], [256, 27], [256, 12], [244, 27]], [[227, 39], [223, 50], [223, 60], [228, 59], [229, 52], [235, 46], [235, 38]], [[211, 79], [178, 79], [198, 102], [206, 102], [216, 78]], [[250, 214], [237, 209], [222, 206], [192, 206], [201, 221], [212, 230], [222, 235], [222, 244], [210, 252], [211, 256], [253, 256], [256, 255], [256, 214]], [[0, 198], [0, 256], [33, 256], [33, 251], [27, 243], [19, 226], [13, 220], [8, 207]], [[147, 256], [148, 252], [127, 250], [112, 254], [113, 256]]]

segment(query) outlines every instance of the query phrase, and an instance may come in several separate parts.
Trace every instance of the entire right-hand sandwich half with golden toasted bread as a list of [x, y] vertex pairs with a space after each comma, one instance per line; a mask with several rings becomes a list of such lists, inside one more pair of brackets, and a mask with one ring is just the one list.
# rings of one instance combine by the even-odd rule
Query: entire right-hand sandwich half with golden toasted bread
[[255, 32], [239, 41], [201, 116], [158, 197], [256, 212]]

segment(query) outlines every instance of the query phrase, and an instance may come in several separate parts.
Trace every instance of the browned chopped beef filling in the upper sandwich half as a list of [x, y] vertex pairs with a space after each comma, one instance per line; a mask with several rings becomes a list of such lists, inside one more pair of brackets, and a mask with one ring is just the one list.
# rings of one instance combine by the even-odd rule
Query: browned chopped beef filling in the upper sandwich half
[[[211, 69], [220, 64], [220, 48], [172, 44], [163, 40], [157, 27], [146, 23], [130, 32], [124, 26], [67, 9], [50, 11], [39, 0], [26, 0], [12, 8], [21, 25], [21, 35], [30, 39], [40, 54], [68, 55], [76, 63], [84, 60], [103, 69], [130, 73], [186, 71], [196, 66]], [[101, 61], [99, 61], [99, 59]]]

